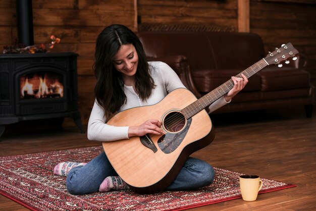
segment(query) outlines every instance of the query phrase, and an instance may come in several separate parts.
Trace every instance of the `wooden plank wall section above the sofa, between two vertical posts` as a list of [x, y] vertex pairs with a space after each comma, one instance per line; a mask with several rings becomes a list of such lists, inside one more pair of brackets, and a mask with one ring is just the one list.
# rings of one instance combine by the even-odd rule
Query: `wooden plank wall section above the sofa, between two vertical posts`
[[[237, 29], [237, 0], [138, 0], [142, 24], [196, 24]], [[141, 27], [140, 27], [141, 28]]]

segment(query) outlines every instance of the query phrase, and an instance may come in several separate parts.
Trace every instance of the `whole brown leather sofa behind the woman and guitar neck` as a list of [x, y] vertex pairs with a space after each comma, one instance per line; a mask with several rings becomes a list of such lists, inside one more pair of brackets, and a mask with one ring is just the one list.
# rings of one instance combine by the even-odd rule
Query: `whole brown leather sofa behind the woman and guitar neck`
[[[137, 35], [148, 59], [166, 62], [197, 98], [268, 54], [260, 36], [254, 33], [137, 32]], [[304, 105], [306, 116], [311, 117], [315, 89], [304, 70], [306, 57], [301, 54], [296, 57], [296, 61], [290, 60], [282, 68], [270, 65], [253, 75], [231, 103], [214, 113]]]

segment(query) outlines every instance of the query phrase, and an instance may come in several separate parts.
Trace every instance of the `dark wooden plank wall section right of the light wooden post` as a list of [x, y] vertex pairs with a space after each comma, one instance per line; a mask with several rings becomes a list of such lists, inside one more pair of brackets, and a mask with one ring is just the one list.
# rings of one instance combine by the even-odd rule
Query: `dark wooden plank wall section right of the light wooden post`
[[259, 34], [268, 51], [291, 42], [308, 59], [316, 86], [316, 1], [250, 1], [250, 32]]

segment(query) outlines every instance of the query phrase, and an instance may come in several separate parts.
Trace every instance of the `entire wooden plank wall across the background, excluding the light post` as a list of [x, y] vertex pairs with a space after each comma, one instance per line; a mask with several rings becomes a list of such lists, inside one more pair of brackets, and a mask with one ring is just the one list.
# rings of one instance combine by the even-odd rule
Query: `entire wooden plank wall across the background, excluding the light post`
[[[295, 3], [299, 2], [299, 3]], [[15, 0], [0, 1], [0, 46], [17, 38]], [[268, 50], [284, 42], [308, 57], [316, 85], [316, 1], [250, 0], [250, 32], [258, 33]], [[197, 24], [238, 30], [238, 0], [33, 0], [35, 44], [62, 39], [52, 51], [78, 53], [79, 108], [87, 124], [93, 104], [94, 43], [104, 26], [120, 23], [132, 30], [144, 24]], [[65, 124], [73, 124], [67, 120]]]

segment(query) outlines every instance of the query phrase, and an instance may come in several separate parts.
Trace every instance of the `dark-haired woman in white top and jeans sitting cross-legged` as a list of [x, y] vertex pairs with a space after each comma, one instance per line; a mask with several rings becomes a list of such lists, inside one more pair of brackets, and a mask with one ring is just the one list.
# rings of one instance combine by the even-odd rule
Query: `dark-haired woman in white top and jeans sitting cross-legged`
[[[123, 25], [111, 25], [98, 35], [93, 66], [97, 79], [96, 100], [88, 123], [88, 139], [116, 141], [132, 136], [163, 134], [159, 120], [141, 125], [115, 127], [106, 122], [116, 112], [160, 102], [169, 92], [185, 88], [177, 74], [165, 63], [147, 62], [136, 34]], [[234, 88], [209, 107], [209, 113], [229, 103], [247, 84], [247, 78], [232, 77]], [[104, 152], [89, 163], [64, 162], [54, 173], [67, 176], [67, 189], [72, 194], [126, 189]], [[166, 190], [188, 190], [213, 182], [212, 166], [189, 157], [180, 173]]]

